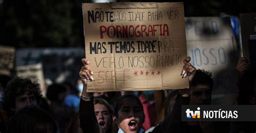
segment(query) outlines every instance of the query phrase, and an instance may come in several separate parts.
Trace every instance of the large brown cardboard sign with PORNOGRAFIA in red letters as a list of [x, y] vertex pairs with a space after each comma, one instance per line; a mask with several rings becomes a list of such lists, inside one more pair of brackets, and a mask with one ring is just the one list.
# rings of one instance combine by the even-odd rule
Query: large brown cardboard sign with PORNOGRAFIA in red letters
[[83, 4], [90, 92], [186, 88], [183, 3]]

